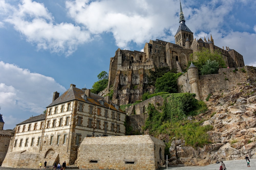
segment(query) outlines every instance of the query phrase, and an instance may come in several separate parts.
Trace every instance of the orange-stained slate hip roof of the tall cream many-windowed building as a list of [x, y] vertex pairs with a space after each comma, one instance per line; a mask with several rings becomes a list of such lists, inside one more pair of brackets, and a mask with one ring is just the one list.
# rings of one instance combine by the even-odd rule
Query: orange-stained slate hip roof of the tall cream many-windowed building
[[[90, 97], [87, 97], [87, 100], [83, 99], [82, 95], [84, 94], [85, 90], [82, 90], [82, 89], [79, 89], [79, 88], [76, 88], [74, 86], [71, 86], [67, 91], [65, 91], [61, 96], [59, 96], [56, 100], [54, 100], [51, 104], [49, 104], [47, 106], [48, 107], [51, 107], [51, 106], [54, 106], [54, 105], [57, 105], [57, 104], [60, 104], [60, 103], [66, 103], [68, 101], [72, 101], [72, 100], [79, 100], [79, 101], [82, 101], [82, 102], [86, 102], [86, 103], [89, 103], [89, 104], [93, 104], [93, 105], [97, 105], [97, 106], [100, 106], [100, 107], [105, 107], [107, 109], [109, 109], [109, 105], [110, 103], [107, 103], [105, 100], [104, 100], [104, 97], [103, 96], [100, 96], [100, 95], [97, 95], [97, 94], [94, 94], [94, 93], [91, 93], [90, 94]], [[100, 104], [100, 102], [98, 100], [103, 100], [104, 101], [104, 105]], [[111, 106], [110, 106], [110, 109], [112, 110], [116, 110], [116, 111], [119, 111], [119, 112], [123, 112], [121, 109], [116, 109], [114, 106], [113, 106], [113, 103], [111, 101]], [[124, 112], [123, 112], [124, 113]]]

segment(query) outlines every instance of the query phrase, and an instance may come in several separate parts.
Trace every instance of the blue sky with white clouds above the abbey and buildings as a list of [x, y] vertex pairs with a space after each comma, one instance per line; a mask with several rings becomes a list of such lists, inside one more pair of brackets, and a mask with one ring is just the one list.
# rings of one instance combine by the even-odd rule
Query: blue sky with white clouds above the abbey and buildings
[[[181, 0], [194, 38], [212, 37], [256, 66], [255, 0]], [[42, 114], [70, 84], [91, 88], [118, 48], [174, 42], [179, 0], [0, 0], [0, 113], [4, 129]]]

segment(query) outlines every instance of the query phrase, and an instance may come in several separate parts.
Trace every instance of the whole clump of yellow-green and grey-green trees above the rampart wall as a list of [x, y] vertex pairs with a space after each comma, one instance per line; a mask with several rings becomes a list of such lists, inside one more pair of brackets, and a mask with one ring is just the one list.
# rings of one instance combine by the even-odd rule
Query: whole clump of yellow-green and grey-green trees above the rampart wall
[[[194, 57], [196, 56], [196, 57]], [[199, 52], [190, 55], [191, 60], [194, 59], [193, 64], [198, 68], [199, 74], [217, 74], [219, 68], [226, 67], [219, 50], [211, 53], [209, 48], [201, 48]]]

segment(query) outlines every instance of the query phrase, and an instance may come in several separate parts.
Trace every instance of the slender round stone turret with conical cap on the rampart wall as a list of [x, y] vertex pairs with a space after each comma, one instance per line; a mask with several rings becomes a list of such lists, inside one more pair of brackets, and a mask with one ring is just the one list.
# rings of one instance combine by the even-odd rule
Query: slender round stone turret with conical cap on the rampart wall
[[199, 81], [199, 75], [198, 75], [198, 68], [191, 62], [189, 68], [188, 68], [188, 82], [191, 87], [191, 93], [196, 94], [196, 99], [200, 100], [200, 93], [198, 89], [198, 81]]

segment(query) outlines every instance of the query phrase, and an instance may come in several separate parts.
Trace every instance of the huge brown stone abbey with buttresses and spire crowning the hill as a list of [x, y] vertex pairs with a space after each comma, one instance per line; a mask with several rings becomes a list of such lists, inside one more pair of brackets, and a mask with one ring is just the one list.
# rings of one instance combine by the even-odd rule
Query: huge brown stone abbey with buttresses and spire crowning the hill
[[[185, 24], [181, 3], [179, 18], [180, 24], [174, 36], [175, 44], [156, 39], [145, 44], [144, 52], [120, 48], [116, 50], [115, 56], [110, 59], [109, 83], [106, 90], [107, 93], [113, 89], [112, 100], [119, 99], [120, 104], [142, 100], [144, 92], [153, 92], [154, 87], [148, 85], [150, 69], [169, 66], [171, 69], [177, 69], [177, 72], [183, 72], [191, 63], [190, 54], [200, 51], [203, 47], [209, 48], [212, 53], [219, 50], [229, 68], [244, 67], [241, 54], [229, 47], [224, 49], [215, 46], [212, 36], [208, 41], [205, 37], [204, 40], [194, 38], [193, 32]], [[179, 92], [186, 90], [181, 89]]]

